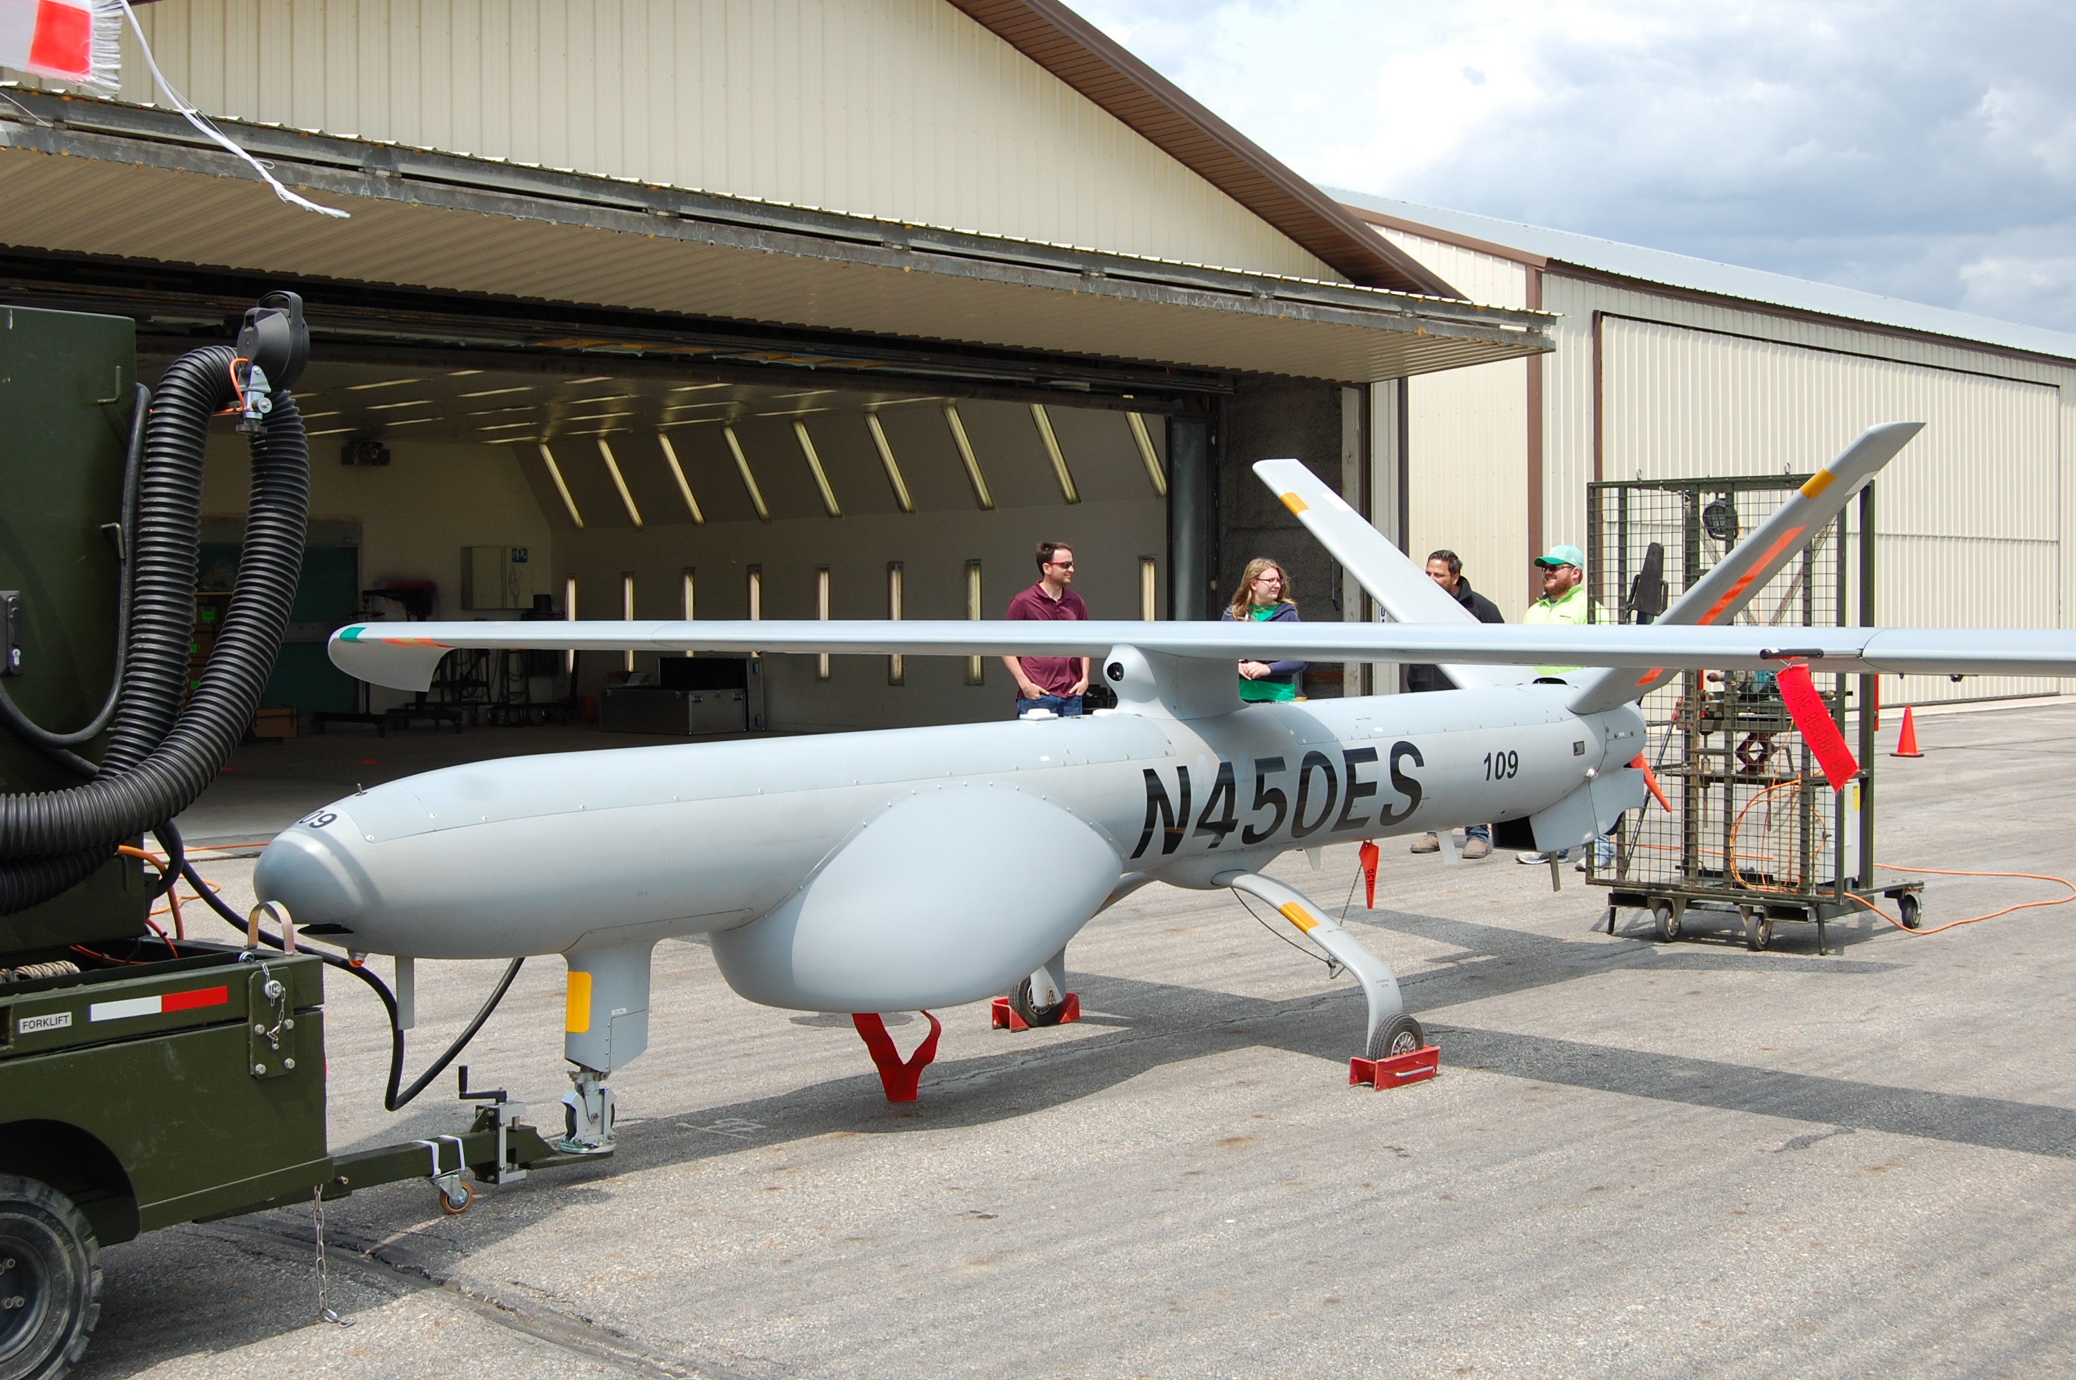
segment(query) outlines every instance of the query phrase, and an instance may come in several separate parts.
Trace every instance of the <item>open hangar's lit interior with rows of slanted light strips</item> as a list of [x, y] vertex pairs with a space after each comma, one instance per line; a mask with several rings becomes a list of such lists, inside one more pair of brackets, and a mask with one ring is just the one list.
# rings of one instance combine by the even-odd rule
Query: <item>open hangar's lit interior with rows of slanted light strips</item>
[[[135, 315], [149, 380], [260, 288], [35, 297]], [[1057, 540], [1075, 548], [1096, 616], [1169, 616], [1169, 421], [1208, 421], [1231, 392], [1214, 374], [1075, 376], [1059, 359], [1046, 378], [1003, 361], [857, 361], [801, 336], [693, 353], [681, 338], [602, 340], [596, 322], [430, 328], [399, 307], [336, 311], [324, 284], [307, 311], [311, 535], [266, 695], [305, 730], [311, 714], [413, 699], [330, 666], [330, 631], [367, 612], [565, 618], [575, 598], [579, 618], [999, 618], [1036, 577], [1034, 544]], [[386, 338], [370, 338], [372, 320]], [[235, 583], [247, 481], [243, 440], [224, 430], [203, 486], [203, 589]], [[486, 577], [492, 556], [504, 579]], [[554, 716], [596, 710], [631, 670], [656, 677], [656, 656], [633, 662], [588, 656], [571, 679], [536, 654], [523, 693]], [[778, 730], [984, 720], [1011, 697], [999, 662], [967, 658], [772, 656], [760, 677]]]

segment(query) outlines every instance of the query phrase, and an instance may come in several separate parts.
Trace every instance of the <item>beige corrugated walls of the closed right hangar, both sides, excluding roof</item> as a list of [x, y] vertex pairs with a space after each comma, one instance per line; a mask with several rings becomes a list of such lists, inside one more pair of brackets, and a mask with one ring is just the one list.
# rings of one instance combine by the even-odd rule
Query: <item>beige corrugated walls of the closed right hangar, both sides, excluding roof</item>
[[[1526, 268], [1378, 230], [1472, 301], [1524, 305]], [[1808, 471], [1873, 421], [1924, 421], [1879, 484], [1877, 616], [1920, 627], [2070, 627], [2076, 608], [2076, 363], [1542, 276], [1545, 544], [1586, 542], [1594, 415], [1609, 479]], [[1594, 378], [1594, 334], [1601, 378]], [[1599, 398], [1599, 403], [1596, 403]], [[1410, 380], [1412, 552], [1453, 546], [1509, 618], [1526, 550], [1524, 365]], [[1470, 531], [1472, 535], [1464, 535]], [[1476, 560], [1474, 560], [1476, 552]], [[1889, 681], [1891, 701], [2076, 691], [2076, 681]]]

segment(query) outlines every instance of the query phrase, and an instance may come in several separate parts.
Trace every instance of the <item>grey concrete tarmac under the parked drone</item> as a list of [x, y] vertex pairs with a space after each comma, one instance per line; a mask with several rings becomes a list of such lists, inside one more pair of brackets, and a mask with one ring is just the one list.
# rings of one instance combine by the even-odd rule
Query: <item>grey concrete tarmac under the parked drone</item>
[[[1893, 739], [1893, 720], [1883, 751]], [[1879, 762], [1881, 857], [2068, 876], [2076, 708], [1924, 716]], [[370, 753], [374, 755], [374, 753]], [[1351, 847], [1277, 874], [1339, 911]], [[206, 872], [235, 901], [249, 861]], [[650, 1052], [600, 1166], [424, 1183], [112, 1247], [114, 1376], [2041, 1376], [2076, 1370], [2076, 907], [1910, 936], [1873, 917], [1657, 944], [1511, 855], [1385, 845], [1351, 928], [1437, 1081], [1347, 1087], [1362, 998], [1225, 892], [1148, 888], [1075, 940], [1080, 1025], [938, 1013], [922, 1098], [849, 1021], [752, 1006], [656, 950]], [[2061, 888], [1931, 878], [1927, 926]], [[378, 961], [380, 963], [380, 961]], [[409, 1073], [496, 977], [419, 969]], [[558, 1125], [563, 965], [467, 1062]], [[453, 1077], [380, 1110], [388, 1031], [328, 988], [332, 1143], [459, 1129]], [[920, 1019], [895, 1023], [903, 1050]]]

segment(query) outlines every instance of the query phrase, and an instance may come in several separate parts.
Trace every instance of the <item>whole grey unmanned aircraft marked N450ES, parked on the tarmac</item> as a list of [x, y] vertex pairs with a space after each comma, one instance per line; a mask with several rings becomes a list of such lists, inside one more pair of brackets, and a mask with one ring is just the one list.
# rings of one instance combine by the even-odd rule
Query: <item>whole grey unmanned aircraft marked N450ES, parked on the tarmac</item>
[[[612, 1139], [606, 1079], [648, 1044], [658, 940], [708, 934], [729, 986], [770, 1006], [1017, 992], [1042, 1021], [1067, 992], [1067, 942], [1148, 882], [1266, 901], [1362, 986], [1366, 1052], [1403, 1054], [1422, 1031], [1391, 967], [1264, 876], [1277, 855], [1484, 820], [1526, 820], [1545, 851], [1588, 843], [1642, 805], [1644, 774], [1626, 766], [1644, 743], [1636, 701], [1682, 668], [2076, 674], [2064, 631], [1731, 625], [1916, 432], [1870, 427], [1650, 627], [1478, 625], [1298, 461], [1254, 471], [1391, 623], [347, 627], [332, 660], [399, 689], [426, 689], [455, 647], [1050, 654], [1098, 658], [1119, 703], [446, 768], [297, 822], [255, 890], [363, 953], [563, 955], [579, 1146]], [[1241, 706], [1241, 658], [1428, 660], [1459, 689]], [[1534, 662], [1594, 668], [1538, 679]]]

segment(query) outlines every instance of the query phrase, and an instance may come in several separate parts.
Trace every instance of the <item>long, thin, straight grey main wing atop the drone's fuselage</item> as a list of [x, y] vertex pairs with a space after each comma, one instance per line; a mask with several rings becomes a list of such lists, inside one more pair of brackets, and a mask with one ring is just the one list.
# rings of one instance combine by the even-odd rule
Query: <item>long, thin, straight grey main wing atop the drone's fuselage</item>
[[[1864, 627], [1522, 627], [1484, 623], [357, 623], [332, 662], [392, 689], [432, 687], [455, 647], [546, 652], [832, 652], [866, 656], [1104, 656], [1111, 647], [1239, 662], [1420, 660], [1518, 666], [1590, 662], [1634, 670], [1760, 670], [1808, 660], [1852, 674], [2076, 677], [2076, 631]], [[1235, 670], [1237, 674], [1237, 670]]]

